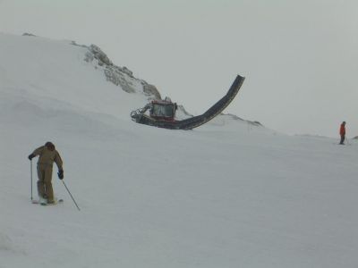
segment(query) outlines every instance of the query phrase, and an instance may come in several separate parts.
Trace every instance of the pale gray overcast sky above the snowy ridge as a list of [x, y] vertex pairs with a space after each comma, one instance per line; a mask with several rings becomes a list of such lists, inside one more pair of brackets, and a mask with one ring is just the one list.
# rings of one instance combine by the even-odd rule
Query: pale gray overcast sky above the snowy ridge
[[356, 0], [0, 0], [0, 31], [96, 44], [193, 114], [241, 74], [225, 113], [358, 135]]

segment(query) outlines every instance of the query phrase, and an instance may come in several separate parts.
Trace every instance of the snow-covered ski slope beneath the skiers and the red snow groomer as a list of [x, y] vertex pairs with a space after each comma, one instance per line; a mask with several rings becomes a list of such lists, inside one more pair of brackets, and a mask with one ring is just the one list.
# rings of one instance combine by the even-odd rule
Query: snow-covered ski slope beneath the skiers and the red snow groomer
[[[84, 54], [0, 34], [1, 268], [358, 266], [357, 141], [227, 117], [190, 131], [136, 124], [146, 96]], [[81, 212], [55, 174], [64, 204], [30, 204], [27, 155], [47, 140]]]

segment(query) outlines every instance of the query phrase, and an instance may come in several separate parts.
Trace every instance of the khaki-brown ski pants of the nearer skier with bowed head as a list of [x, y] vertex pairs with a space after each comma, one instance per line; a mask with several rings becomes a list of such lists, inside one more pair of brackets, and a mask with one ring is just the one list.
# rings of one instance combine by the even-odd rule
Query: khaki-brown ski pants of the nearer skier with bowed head
[[54, 200], [52, 188], [52, 164], [38, 164], [38, 197], [47, 197], [48, 201]]

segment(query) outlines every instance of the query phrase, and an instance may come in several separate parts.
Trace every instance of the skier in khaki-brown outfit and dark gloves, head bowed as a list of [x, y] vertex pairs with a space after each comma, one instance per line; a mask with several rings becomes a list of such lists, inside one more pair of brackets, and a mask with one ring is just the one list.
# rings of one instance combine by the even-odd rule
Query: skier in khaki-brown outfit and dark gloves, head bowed
[[38, 157], [38, 197], [47, 199], [47, 204], [54, 204], [54, 190], [52, 188], [52, 165], [55, 162], [58, 168], [58, 178], [64, 179], [63, 162], [60, 154], [55, 150], [55, 145], [47, 141], [45, 146], [38, 147], [29, 159]]

